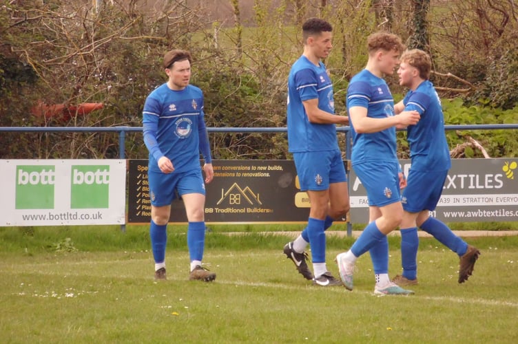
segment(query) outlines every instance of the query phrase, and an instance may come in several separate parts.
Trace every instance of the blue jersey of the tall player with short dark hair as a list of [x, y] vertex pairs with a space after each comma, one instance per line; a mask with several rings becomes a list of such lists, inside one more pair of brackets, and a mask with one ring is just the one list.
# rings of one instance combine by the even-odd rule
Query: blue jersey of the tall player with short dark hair
[[338, 149], [336, 126], [309, 122], [302, 101], [318, 98], [318, 108], [335, 113], [333, 84], [322, 62], [316, 66], [306, 56], [293, 63], [288, 77], [287, 127], [291, 153]]

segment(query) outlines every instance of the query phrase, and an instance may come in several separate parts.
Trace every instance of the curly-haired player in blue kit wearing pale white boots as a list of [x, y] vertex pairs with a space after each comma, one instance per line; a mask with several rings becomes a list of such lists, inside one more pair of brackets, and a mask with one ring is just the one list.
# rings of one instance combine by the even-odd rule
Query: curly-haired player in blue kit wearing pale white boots
[[396, 127], [415, 125], [419, 114], [402, 111], [395, 116], [393, 96], [383, 79], [394, 73], [404, 50], [400, 37], [377, 32], [369, 36], [367, 47], [367, 65], [351, 79], [346, 105], [353, 136], [352, 166], [366, 189], [369, 207], [376, 208], [380, 216], [366, 226], [349, 251], [337, 255], [336, 261], [342, 283], [348, 290], [353, 290], [355, 261], [369, 251], [375, 274], [375, 294], [413, 294], [388, 277], [386, 235], [397, 228], [403, 216]]

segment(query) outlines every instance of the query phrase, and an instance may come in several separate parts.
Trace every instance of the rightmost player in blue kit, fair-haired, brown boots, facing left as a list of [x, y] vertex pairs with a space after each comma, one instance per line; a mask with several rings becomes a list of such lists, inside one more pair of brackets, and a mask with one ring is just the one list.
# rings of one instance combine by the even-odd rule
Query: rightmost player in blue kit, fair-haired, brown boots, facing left
[[393, 281], [399, 286], [417, 284], [417, 227], [430, 233], [459, 255], [459, 283], [473, 273], [480, 252], [455, 235], [446, 224], [430, 216], [442, 194], [448, 169], [450, 151], [444, 133], [444, 116], [439, 96], [430, 80], [431, 58], [422, 50], [409, 50], [401, 57], [400, 85], [410, 90], [395, 105], [396, 114], [415, 110], [421, 115], [416, 125], [406, 129], [410, 146], [411, 167], [403, 191], [403, 220], [400, 224], [402, 275]]

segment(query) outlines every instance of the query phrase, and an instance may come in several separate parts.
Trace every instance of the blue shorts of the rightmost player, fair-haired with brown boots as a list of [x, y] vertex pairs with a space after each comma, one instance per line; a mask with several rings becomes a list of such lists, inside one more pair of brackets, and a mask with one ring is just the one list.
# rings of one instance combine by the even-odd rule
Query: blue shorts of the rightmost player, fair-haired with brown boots
[[401, 201], [403, 209], [408, 213], [434, 211], [447, 176], [448, 170], [425, 172], [410, 169]]

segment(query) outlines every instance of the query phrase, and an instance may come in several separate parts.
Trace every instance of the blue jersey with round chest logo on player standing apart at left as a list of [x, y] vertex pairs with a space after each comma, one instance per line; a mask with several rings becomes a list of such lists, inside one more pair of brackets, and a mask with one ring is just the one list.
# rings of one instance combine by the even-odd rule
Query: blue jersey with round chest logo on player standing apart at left
[[[198, 129], [203, 127], [206, 131], [204, 116], [203, 92], [196, 86], [187, 85], [185, 89], [175, 91], [164, 83], [147, 96], [143, 124], [152, 131], [156, 130], [158, 148], [172, 161], [175, 172], [200, 169]], [[150, 151], [150, 171], [160, 171], [156, 159]], [[205, 157], [205, 162], [210, 162], [210, 159], [210, 155]]]

